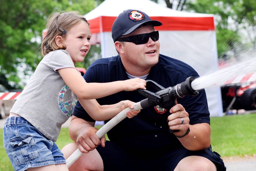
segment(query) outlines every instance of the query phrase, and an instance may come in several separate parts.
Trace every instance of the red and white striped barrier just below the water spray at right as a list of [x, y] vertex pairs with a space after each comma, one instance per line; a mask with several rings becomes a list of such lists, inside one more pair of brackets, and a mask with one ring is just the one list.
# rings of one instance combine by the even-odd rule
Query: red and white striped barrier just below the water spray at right
[[243, 82], [254, 82], [256, 81], [256, 73], [250, 74], [240, 74], [237, 75], [235, 78], [232, 78], [224, 83], [226, 84], [235, 84], [235, 83], [243, 83]]

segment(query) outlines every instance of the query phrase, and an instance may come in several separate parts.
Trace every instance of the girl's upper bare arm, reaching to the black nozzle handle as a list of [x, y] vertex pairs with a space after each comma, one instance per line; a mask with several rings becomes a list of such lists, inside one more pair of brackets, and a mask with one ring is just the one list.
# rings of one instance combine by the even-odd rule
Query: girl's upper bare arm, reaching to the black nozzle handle
[[87, 83], [75, 68], [58, 69], [58, 72], [68, 87], [80, 99], [97, 99], [123, 90], [146, 89], [146, 81], [140, 78], [107, 83]]

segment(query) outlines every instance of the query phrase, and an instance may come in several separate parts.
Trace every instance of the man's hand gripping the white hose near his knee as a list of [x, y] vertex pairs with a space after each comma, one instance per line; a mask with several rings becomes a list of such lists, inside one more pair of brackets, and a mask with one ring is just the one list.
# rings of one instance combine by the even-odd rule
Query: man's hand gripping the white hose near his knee
[[94, 127], [87, 127], [79, 131], [76, 144], [82, 153], [89, 153], [89, 151], [94, 150], [100, 144], [102, 147], [105, 147], [106, 138], [103, 136], [99, 139], [96, 136], [97, 131], [98, 129]]

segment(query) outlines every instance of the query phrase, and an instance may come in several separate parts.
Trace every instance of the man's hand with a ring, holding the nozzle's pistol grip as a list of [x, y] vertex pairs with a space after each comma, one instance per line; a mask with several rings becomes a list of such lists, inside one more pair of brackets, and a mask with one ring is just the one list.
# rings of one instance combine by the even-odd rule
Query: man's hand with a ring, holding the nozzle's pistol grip
[[175, 104], [170, 109], [170, 113], [172, 113], [168, 116], [168, 125], [170, 126], [170, 129], [180, 130], [178, 132], [174, 132], [176, 136], [184, 135], [189, 128], [188, 112], [186, 112], [181, 104]]

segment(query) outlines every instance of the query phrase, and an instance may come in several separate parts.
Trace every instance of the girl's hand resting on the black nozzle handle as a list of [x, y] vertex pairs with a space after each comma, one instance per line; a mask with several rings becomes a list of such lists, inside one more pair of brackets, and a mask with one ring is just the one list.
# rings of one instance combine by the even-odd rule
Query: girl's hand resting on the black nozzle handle
[[122, 81], [125, 91], [133, 91], [137, 89], [146, 89], [146, 81], [141, 78], [132, 78]]

